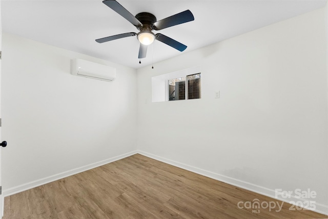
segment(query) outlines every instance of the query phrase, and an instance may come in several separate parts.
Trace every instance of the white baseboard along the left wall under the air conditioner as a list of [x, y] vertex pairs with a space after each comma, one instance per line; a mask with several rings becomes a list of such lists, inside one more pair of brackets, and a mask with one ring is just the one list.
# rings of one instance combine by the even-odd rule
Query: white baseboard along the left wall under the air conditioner
[[114, 161], [118, 161], [122, 158], [131, 156], [131, 155], [136, 154], [136, 153], [137, 153], [137, 151], [132, 151], [132, 152], [129, 152], [129, 153], [125, 153], [125, 154], [121, 154], [121, 155], [118, 155], [118, 156], [108, 158], [104, 161], [99, 161], [99, 162], [89, 164], [89, 165], [86, 165], [86, 166], [83, 166], [83, 167], [78, 167], [78, 168], [68, 170], [68, 171], [65, 171], [65, 172], [62, 172], [62, 173], [58, 173], [58, 174], [51, 175], [51, 176], [48, 176], [48, 177], [45, 177], [45, 178], [41, 178], [40, 180], [36, 180], [36, 181], [25, 183], [25, 184], [22, 184], [22, 185], [19, 185], [19, 186], [15, 186], [15, 187], [3, 190], [3, 196], [13, 195], [13, 194], [16, 194], [18, 192], [23, 192], [23, 191], [26, 191], [28, 189], [32, 189], [32, 188], [35, 188], [35, 187], [38, 187], [38, 186], [42, 186], [42, 185], [45, 185], [47, 183], [51, 183], [53, 181], [60, 180], [61, 178], [65, 178], [65, 177], [68, 177], [68, 176], [71, 176], [71, 175], [74, 175], [74, 174], [77, 174], [77, 173], [80, 173], [80, 172], [84, 172], [84, 171], [87, 171], [87, 170], [90, 170], [90, 169], [105, 165], [105, 164], [112, 163]]

